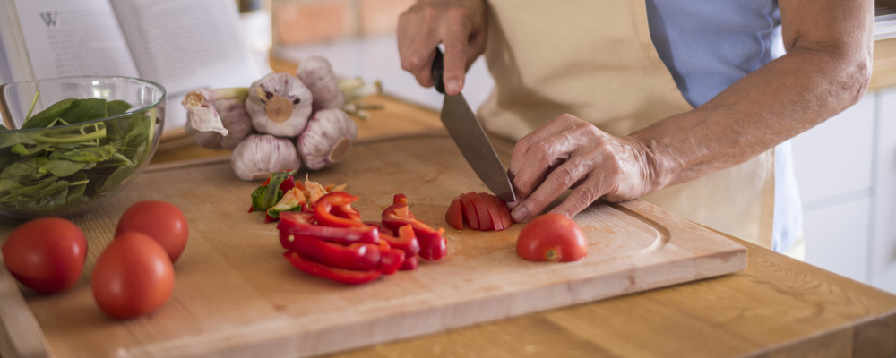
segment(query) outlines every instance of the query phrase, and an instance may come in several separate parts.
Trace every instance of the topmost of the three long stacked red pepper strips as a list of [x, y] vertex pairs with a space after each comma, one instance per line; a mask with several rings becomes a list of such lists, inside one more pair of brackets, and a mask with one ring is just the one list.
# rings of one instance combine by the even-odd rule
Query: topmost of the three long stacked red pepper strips
[[332, 227], [313, 224], [314, 214], [284, 211], [280, 213], [280, 238], [288, 238], [290, 234], [308, 236], [331, 243], [349, 245], [352, 243], [380, 243], [380, 234], [376, 226]]

